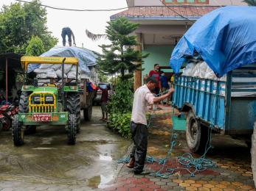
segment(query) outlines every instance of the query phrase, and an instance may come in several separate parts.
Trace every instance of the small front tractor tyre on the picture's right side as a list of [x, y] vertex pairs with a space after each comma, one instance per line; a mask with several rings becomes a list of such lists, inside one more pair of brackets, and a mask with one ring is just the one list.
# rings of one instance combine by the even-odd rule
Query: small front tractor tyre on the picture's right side
[[69, 114], [68, 121], [68, 144], [75, 145], [77, 138], [77, 123], [76, 123], [75, 114]]

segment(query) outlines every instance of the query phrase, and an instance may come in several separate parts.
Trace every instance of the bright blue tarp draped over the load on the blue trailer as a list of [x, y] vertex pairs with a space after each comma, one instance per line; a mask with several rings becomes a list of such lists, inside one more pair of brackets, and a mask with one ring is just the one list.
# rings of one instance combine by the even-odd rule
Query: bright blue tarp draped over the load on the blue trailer
[[195, 51], [218, 77], [256, 62], [256, 7], [221, 7], [199, 18], [173, 50], [173, 71]]

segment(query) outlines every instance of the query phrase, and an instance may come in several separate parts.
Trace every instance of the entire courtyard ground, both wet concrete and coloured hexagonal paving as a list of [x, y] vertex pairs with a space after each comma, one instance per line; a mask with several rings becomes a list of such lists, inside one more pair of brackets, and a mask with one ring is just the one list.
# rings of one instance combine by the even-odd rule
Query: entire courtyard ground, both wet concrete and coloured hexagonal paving
[[[148, 156], [165, 158], [172, 131], [172, 109], [153, 115], [148, 142]], [[190, 176], [176, 156], [190, 153], [184, 132], [168, 156], [166, 169], [178, 168], [168, 179], [144, 175], [134, 176], [131, 169], [117, 164], [127, 156], [130, 140], [125, 140], [100, 122], [100, 108], [94, 108], [91, 122], [82, 123], [77, 145], [66, 145], [66, 132], [49, 127], [38, 129], [26, 137], [26, 144], [14, 147], [11, 132], [1, 131], [0, 190], [255, 190], [252, 181], [250, 149], [238, 140], [215, 134], [207, 159], [217, 164]], [[130, 147], [131, 148], [131, 147]], [[195, 158], [199, 155], [193, 154]], [[158, 162], [147, 163], [156, 172]], [[190, 168], [193, 171], [194, 168]]]

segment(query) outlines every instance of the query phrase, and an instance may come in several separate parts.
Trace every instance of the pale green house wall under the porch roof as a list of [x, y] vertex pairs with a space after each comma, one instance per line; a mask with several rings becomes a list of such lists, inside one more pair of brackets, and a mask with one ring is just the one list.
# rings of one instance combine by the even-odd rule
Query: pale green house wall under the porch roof
[[[144, 59], [144, 64], [142, 65], [142, 68], [144, 68], [144, 71], [142, 71], [142, 79], [145, 74], [153, 70], [153, 65], [156, 63], [160, 66], [169, 66], [170, 54], [173, 48], [174, 46], [145, 46], [142, 53], [149, 53], [150, 55]], [[170, 70], [163, 71], [172, 72]]]

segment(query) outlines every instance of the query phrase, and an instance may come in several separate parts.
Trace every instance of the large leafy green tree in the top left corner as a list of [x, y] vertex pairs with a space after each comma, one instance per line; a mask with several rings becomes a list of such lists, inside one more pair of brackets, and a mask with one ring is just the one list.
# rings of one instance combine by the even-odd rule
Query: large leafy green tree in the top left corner
[[13, 3], [3, 6], [0, 13], [0, 53], [25, 54], [32, 36], [38, 36], [44, 43], [45, 51], [58, 42], [46, 26], [46, 9], [40, 1], [34, 3]]

